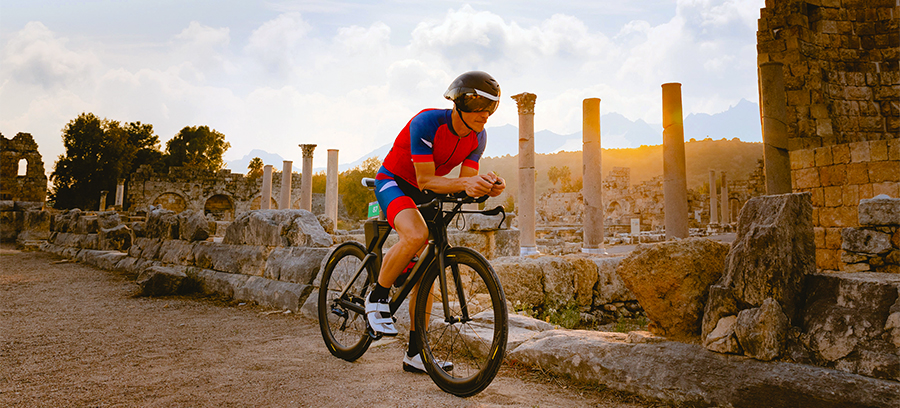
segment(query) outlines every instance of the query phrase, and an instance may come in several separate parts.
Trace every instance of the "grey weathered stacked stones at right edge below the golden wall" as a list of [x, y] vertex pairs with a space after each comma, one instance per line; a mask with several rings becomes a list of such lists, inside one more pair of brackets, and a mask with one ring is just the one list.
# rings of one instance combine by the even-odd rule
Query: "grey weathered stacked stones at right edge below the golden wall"
[[859, 223], [841, 231], [844, 270], [900, 273], [900, 198], [860, 201]]

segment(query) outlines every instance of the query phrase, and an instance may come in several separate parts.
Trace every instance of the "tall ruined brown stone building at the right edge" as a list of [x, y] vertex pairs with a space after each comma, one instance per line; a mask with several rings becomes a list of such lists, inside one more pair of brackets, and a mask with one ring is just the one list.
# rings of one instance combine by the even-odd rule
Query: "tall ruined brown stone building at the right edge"
[[810, 192], [821, 270], [845, 270], [859, 201], [900, 197], [896, 0], [766, 1], [759, 63], [783, 63], [794, 192]]

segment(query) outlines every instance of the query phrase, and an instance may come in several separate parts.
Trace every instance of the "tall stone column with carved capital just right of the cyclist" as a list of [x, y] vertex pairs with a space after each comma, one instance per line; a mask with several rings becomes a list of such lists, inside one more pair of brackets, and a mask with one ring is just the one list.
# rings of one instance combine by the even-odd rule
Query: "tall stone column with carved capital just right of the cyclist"
[[512, 96], [519, 107], [519, 254], [537, 254], [534, 232], [534, 101], [537, 95]]

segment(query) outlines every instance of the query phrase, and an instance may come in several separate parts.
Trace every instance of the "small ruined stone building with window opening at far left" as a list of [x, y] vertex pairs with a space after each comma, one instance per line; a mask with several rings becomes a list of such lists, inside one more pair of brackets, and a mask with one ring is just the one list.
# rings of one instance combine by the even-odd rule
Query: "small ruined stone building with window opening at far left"
[[37, 143], [28, 133], [0, 134], [0, 200], [44, 202], [47, 175]]

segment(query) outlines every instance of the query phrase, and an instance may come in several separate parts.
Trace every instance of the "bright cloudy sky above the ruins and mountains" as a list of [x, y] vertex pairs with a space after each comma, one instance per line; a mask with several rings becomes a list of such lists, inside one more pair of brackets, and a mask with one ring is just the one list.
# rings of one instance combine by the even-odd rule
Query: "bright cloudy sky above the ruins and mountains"
[[[758, 103], [764, 0], [0, 0], [0, 133], [31, 133], [52, 171], [82, 112], [225, 134], [226, 160], [252, 149], [295, 165], [298, 144], [349, 163], [390, 143], [469, 70], [498, 80], [490, 128], [581, 130], [582, 101], [660, 123], [661, 85], [684, 115]], [[602, 127], [602, 124], [601, 124]], [[601, 129], [602, 132], [602, 129]], [[660, 143], [662, 136], [660, 136]], [[604, 148], [628, 146], [624, 140]], [[280, 168], [280, 163], [274, 164]], [[246, 169], [232, 169], [245, 172]]]

